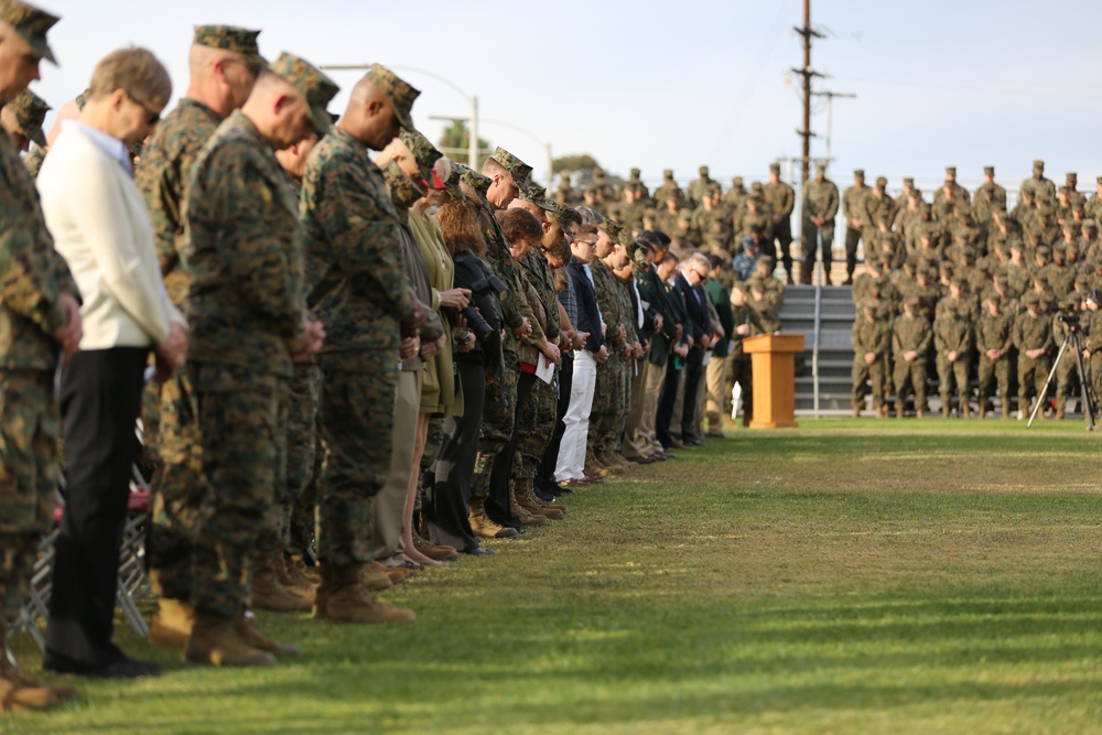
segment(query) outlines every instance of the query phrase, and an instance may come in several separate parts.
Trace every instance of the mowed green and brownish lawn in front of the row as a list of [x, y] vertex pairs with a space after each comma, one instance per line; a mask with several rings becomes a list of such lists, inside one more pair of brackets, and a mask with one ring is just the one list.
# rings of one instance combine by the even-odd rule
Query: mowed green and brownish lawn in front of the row
[[164, 677], [0, 732], [1102, 732], [1100, 457], [1070, 421], [733, 430], [388, 593], [413, 625], [262, 614], [306, 649], [267, 670], [120, 627]]

